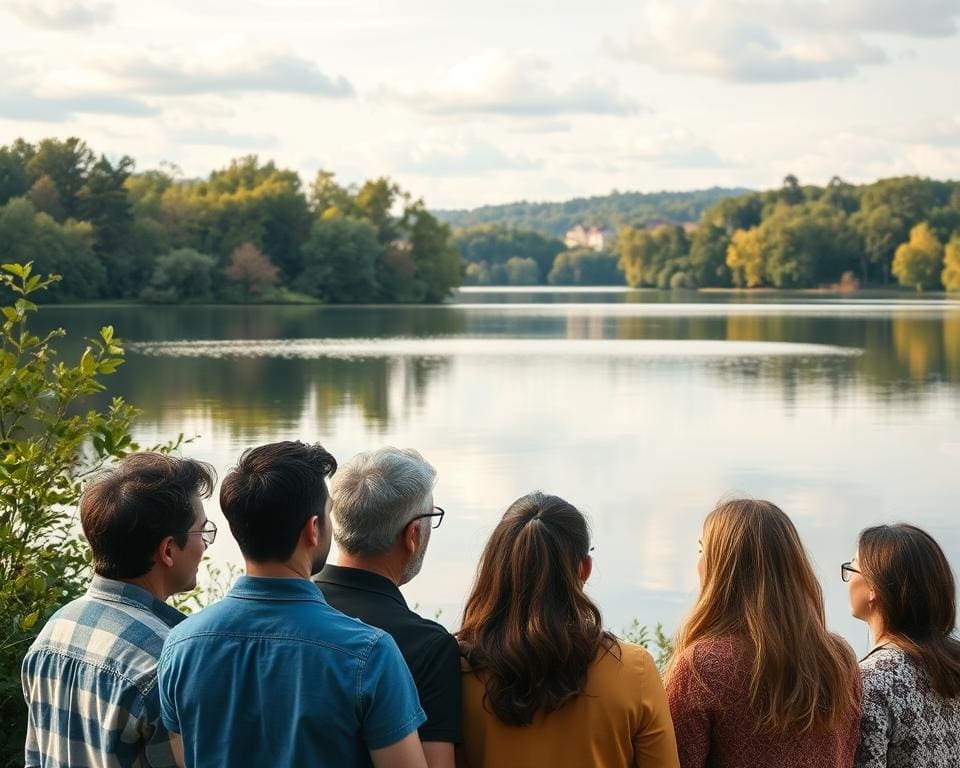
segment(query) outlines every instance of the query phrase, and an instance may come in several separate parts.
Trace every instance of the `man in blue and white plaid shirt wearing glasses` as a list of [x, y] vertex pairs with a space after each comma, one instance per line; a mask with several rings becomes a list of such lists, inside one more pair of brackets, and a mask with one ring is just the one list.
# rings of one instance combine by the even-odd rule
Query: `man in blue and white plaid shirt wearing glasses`
[[156, 669], [185, 616], [164, 601], [196, 585], [216, 535], [200, 499], [215, 483], [200, 462], [139, 453], [87, 487], [80, 520], [96, 575], [23, 660], [27, 768], [176, 765]]

